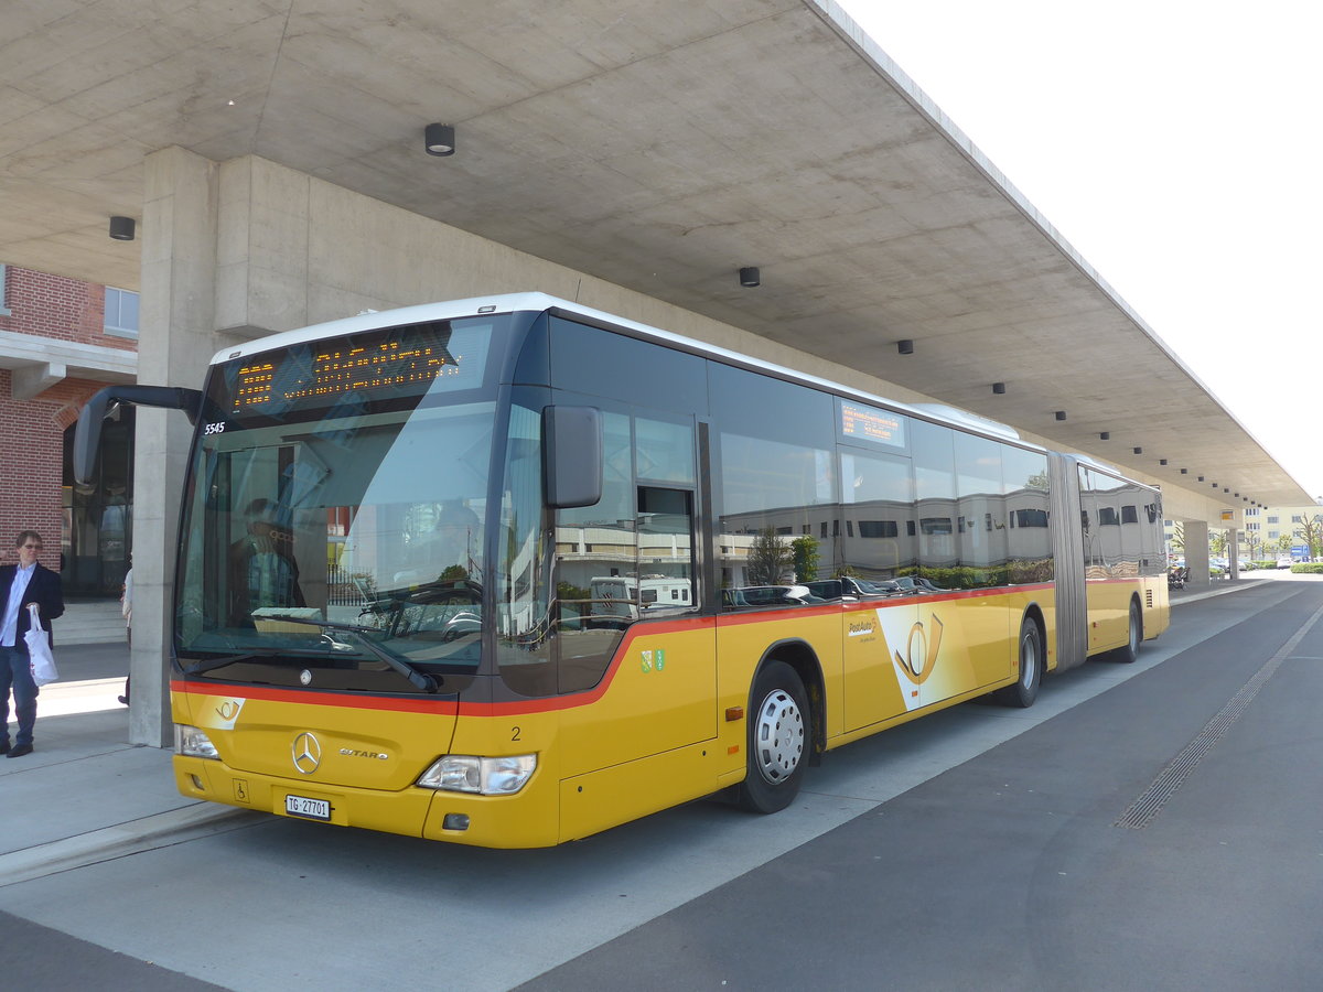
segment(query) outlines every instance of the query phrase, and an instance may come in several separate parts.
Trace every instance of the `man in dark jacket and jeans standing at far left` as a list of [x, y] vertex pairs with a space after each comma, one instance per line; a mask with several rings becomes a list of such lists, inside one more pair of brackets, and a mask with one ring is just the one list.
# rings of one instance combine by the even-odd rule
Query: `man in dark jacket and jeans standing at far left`
[[[41, 534], [22, 530], [15, 541], [17, 565], [0, 566], [0, 754], [21, 758], [32, 754], [32, 730], [37, 722], [37, 684], [32, 680], [32, 659], [24, 634], [32, 626], [28, 604], [36, 603], [41, 626], [65, 612], [60, 573], [41, 565]], [[9, 690], [19, 717], [19, 735], [9, 745]]]

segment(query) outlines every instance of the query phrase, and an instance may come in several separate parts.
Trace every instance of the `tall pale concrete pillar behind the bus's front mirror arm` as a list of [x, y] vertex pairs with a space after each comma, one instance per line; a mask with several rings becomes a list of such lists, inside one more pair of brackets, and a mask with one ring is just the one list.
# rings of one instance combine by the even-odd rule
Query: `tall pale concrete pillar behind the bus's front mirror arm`
[[[138, 381], [202, 384], [216, 352], [217, 167], [183, 148], [146, 159]], [[130, 743], [172, 743], [175, 540], [191, 426], [177, 410], [138, 411], [134, 464], [134, 649]]]

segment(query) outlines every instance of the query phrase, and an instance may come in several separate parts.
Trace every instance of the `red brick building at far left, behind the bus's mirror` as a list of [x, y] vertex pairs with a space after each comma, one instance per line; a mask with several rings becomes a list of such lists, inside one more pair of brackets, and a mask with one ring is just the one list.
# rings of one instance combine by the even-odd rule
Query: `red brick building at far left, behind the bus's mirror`
[[41, 532], [70, 597], [115, 595], [132, 537], [132, 413], [108, 425], [99, 476], [69, 474], [83, 402], [138, 369], [138, 296], [0, 265], [0, 548]]

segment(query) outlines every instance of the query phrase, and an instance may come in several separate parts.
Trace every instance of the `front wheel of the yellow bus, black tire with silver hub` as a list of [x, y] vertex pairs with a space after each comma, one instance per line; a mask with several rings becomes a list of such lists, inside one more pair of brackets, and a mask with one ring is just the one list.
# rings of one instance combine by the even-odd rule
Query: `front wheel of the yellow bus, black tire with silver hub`
[[740, 806], [774, 813], [799, 794], [814, 739], [808, 697], [794, 668], [769, 661], [758, 669], [749, 693], [747, 722]]

